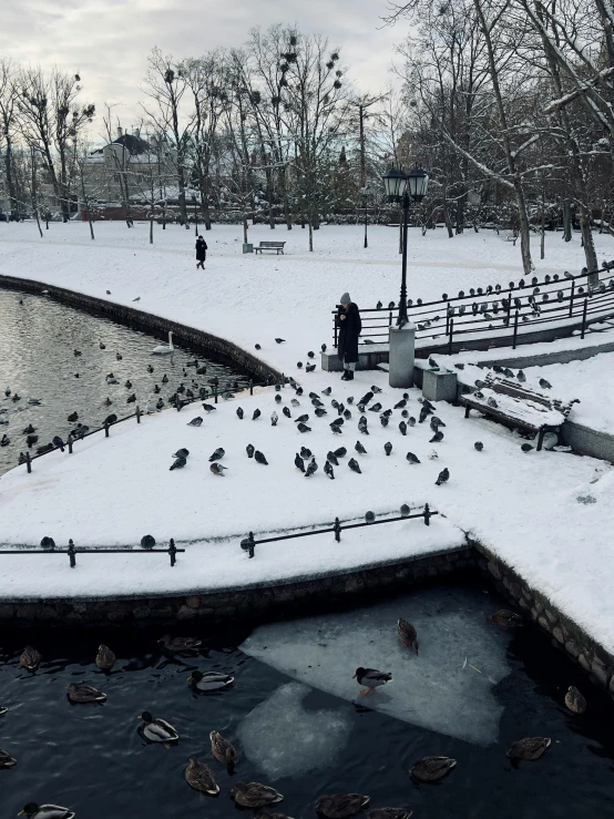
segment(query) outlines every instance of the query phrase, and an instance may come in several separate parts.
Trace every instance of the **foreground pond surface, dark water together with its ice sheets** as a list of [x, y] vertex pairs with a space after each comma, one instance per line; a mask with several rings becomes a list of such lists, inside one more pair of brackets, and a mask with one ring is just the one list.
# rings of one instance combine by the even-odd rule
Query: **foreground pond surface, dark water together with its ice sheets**
[[[4, 631], [0, 748], [17, 766], [0, 770], [2, 816], [35, 801], [70, 807], [82, 819], [215, 819], [235, 815], [229, 789], [237, 780], [275, 787], [284, 795], [276, 809], [295, 819], [315, 817], [316, 799], [339, 792], [366, 794], [371, 808], [407, 807], [428, 819], [610, 815], [611, 700], [538, 629], [487, 624], [485, 614], [501, 605], [481, 584], [449, 584], [255, 632], [248, 624], [192, 624], [183, 634], [203, 645], [191, 657], [165, 653], [160, 628]], [[416, 621], [418, 657], [399, 644], [399, 614]], [[25, 643], [43, 655], [35, 674], [19, 665]], [[116, 654], [111, 673], [94, 664], [100, 643]], [[351, 679], [358, 656], [366, 666], [386, 656], [382, 670], [392, 669], [392, 682], [360, 696]], [[403, 665], [413, 675], [410, 686]], [[187, 682], [194, 669], [223, 672], [234, 683], [197, 695]], [[71, 682], [95, 686], [106, 702], [71, 705]], [[566, 710], [569, 685], [585, 695], [585, 714]], [[392, 700], [397, 716], [387, 713]], [[170, 721], [178, 743], [147, 745], [137, 733], [143, 710]], [[211, 730], [234, 743], [234, 775], [213, 758]], [[506, 749], [531, 736], [552, 744], [541, 759], [513, 765]], [[433, 755], [458, 764], [437, 784], [417, 784], [409, 768]], [[217, 797], [187, 786], [192, 756], [212, 769]]]

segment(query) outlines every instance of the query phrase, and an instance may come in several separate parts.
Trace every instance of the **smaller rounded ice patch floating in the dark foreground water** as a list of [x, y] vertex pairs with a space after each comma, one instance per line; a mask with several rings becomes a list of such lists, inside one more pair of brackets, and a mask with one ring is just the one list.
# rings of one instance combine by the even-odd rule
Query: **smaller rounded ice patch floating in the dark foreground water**
[[310, 688], [288, 683], [257, 705], [238, 726], [241, 748], [275, 780], [327, 768], [344, 748], [351, 716], [341, 709], [308, 710]]

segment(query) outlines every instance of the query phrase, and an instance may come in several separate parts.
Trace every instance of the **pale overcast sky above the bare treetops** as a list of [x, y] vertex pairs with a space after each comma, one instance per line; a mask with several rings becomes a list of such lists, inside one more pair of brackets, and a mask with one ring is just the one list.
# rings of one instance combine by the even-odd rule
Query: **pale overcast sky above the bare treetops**
[[2, 3], [0, 54], [79, 71], [88, 101], [139, 120], [150, 50], [196, 57], [241, 45], [254, 25], [297, 24], [328, 35], [364, 92], [385, 89], [407, 23], [383, 27], [386, 0], [13, 0]]

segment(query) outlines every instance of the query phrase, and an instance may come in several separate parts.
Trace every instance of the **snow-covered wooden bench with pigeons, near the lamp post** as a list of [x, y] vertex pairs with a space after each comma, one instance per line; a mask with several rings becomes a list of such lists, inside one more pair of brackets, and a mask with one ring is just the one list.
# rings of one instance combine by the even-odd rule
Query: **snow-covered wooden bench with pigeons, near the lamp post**
[[[489, 399], [494, 403], [489, 403]], [[508, 426], [536, 432], [538, 451], [542, 448], [545, 432], [560, 429], [570, 414], [572, 405], [580, 403], [577, 398], [563, 402], [559, 398], [535, 392], [530, 387], [501, 378], [494, 372], [488, 373], [481, 390], [461, 396], [459, 400], [464, 407], [465, 418], [469, 418], [472, 409], [477, 409]]]

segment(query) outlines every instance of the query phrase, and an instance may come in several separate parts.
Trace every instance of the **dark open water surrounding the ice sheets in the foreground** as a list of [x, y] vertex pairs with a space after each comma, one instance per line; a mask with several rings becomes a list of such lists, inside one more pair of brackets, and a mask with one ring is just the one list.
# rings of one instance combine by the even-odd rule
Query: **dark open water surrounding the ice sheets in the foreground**
[[[442, 587], [434, 593], [453, 591]], [[472, 594], [477, 604], [479, 598], [483, 602], [483, 590]], [[493, 607], [501, 605], [494, 595], [490, 602]], [[10, 708], [0, 720], [0, 748], [18, 759], [16, 768], [0, 771], [2, 818], [14, 816], [30, 800], [69, 806], [81, 819], [235, 816], [228, 796], [233, 778], [211, 756], [208, 733], [218, 729], [237, 745], [235, 780], [267, 782], [258, 766], [242, 755], [237, 727], [289, 679], [236, 647], [248, 636], [248, 628], [193, 626], [186, 633], [205, 642], [195, 659], [164, 656], [156, 644], [157, 629], [54, 629], [34, 635], [13, 629], [0, 635], [0, 704]], [[35, 675], [19, 666], [27, 642], [34, 643], [45, 658]], [[110, 676], [93, 663], [100, 642], [117, 655]], [[614, 725], [608, 698], [532, 627], [514, 633], [508, 658], [512, 672], [495, 688], [504, 707], [500, 741], [490, 747], [417, 728], [313, 690], [305, 707], [344, 709], [351, 720], [349, 740], [324, 772], [299, 771], [276, 780], [275, 787], [285, 796], [279, 809], [296, 819], [311, 817], [318, 796], [352, 791], [370, 795], [371, 807], [408, 806], [415, 817], [428, 819], [613, 816]], [[223, 693], [196, 697], [186, 683], [195, 667], [232, 673], [235, 683]], [[71, 706], [65, 687], [73, 680], [101, 688], [108, 702]], [[582, 716], [564, 708], [570, 684], [589, 699]], [[143, 709], [177, 728], [176, 747], [166, 750], [143, 744], [136, 733], [136, 716]], [[273, 721], [270, 743], [275, 743]], [[551, 748], [542, 759], [514, 769], [505, 749], [515, 739], [535, 735], [550, 736]], [[299, 736], [296, 741], [300, 743]], [[284, 751], [291, 755], [293, 747]], [[193, 755], [214, 770], [221, 786], [217, 798], [199, 797], [185, 782], [183, 770]], [[418, 786], [408, 769], [427, 755], [452, 756], [458, 766], [441, 782]]]

